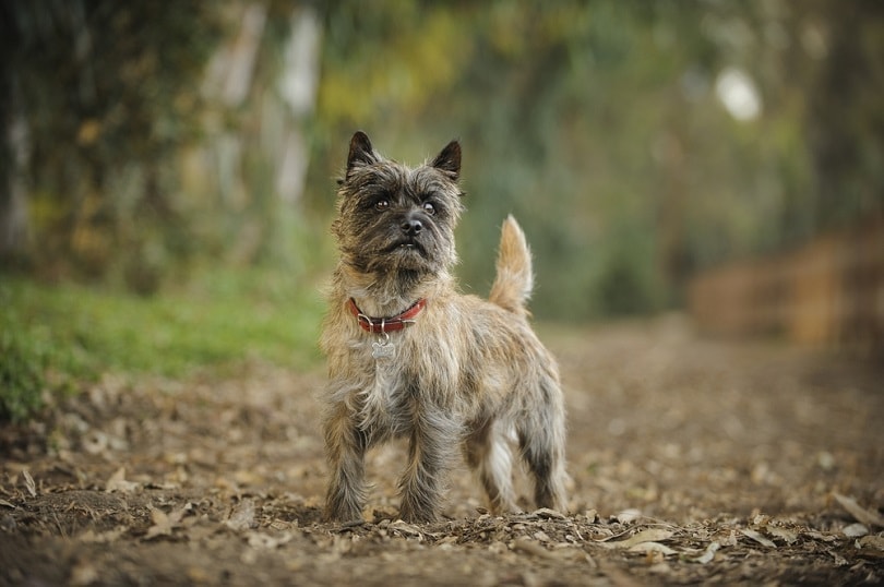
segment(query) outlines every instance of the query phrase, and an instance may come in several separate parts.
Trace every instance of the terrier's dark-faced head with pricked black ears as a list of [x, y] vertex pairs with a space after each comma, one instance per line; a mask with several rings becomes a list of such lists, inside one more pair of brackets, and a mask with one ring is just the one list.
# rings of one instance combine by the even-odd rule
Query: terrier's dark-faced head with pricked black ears
[[449, 143], [431, 161], [409, 168], [386, 159], [368, 135], [350, 140], [332, 231], [342, 261], [363, 274], [438, 274], [456, 262], [461, 214], [461, 145]]

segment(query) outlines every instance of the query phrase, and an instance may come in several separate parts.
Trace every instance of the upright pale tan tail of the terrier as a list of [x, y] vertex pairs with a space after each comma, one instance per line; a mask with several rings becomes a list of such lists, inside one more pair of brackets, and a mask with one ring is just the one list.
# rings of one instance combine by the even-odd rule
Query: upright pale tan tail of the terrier
[[489, 301], [514, 314], [527, 315], [526, 304], [534, 287], [531, 253], [525, 233], [515, 218], [503, 221], [498, 252], [498, 275], [491, 286]]

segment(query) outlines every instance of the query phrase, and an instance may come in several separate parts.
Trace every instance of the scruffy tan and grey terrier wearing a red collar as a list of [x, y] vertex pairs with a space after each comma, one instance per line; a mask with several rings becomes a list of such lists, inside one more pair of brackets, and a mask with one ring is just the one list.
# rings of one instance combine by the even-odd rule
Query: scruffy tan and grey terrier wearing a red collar
[[525, 236], [504, 221], [489, 301], [458, 294], [450, 269], [459, 173], [456, 141], [416, 168], [383, 157], [362, 132], [350, 141], [321, 338], [328, 519], [362, 519], [366, 452], [395, 438], [408, 441], [405, 520], [437, 518], [458, 448], [490, 510], [516, 511], [513, 441], [536, 505], [565, 507], [564, 405], [556, 361], [528, 324]]

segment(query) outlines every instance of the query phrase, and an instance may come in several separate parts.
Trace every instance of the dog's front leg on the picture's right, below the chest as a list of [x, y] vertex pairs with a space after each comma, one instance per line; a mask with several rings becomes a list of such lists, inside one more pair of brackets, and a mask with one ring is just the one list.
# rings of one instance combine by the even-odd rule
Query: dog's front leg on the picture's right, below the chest
[[461, 429], [442, 414], [416, 418], [408, 446], [408, 466], [399, 480], [399, 515], [406, 522], [432, 522], [441, 505], [445, 474]]

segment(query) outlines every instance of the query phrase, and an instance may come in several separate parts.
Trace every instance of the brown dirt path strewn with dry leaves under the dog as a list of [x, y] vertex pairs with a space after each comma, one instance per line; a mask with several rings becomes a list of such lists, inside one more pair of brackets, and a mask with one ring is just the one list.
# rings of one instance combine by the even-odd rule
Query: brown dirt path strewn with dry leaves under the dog
[[[884, 582], [884, 373], [653, 324], [542, 330], [569, 406], [568, 513], [320, 518], [322, 373], [106, 376], [0, 428], [2, 585], [852, 585]], [[524, 483], [522, 493], [526, 494]]]

